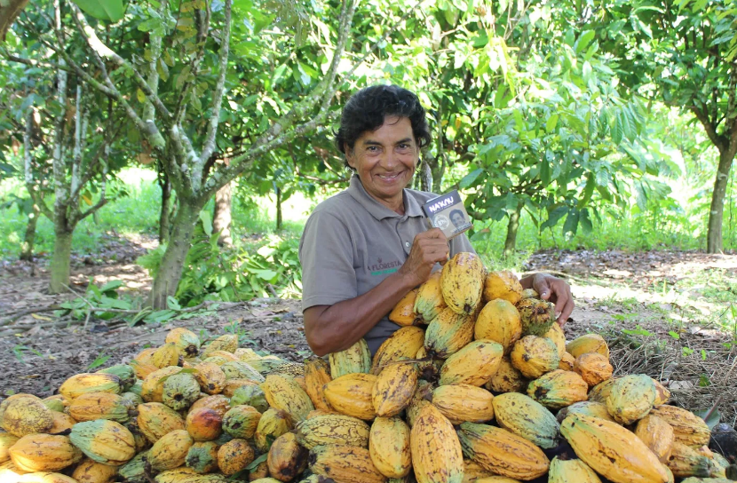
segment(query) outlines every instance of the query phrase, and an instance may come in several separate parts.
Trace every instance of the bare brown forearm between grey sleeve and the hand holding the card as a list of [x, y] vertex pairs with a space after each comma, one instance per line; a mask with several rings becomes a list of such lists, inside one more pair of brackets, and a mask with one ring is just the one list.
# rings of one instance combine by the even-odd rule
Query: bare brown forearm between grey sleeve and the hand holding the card
[[305, 310], [307, 344], [319, 356], [343, 351], [364, 337], [394, 305], [415, 288], [415, 281], [400, 272], [358, 297]]

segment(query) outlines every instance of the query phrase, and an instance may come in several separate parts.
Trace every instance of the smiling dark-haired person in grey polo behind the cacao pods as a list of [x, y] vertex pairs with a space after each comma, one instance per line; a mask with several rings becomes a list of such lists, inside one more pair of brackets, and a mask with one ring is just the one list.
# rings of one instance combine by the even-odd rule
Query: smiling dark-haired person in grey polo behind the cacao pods
[[[465, 234], [448, 241], [439, 228], [428, 229], [422, 205], [436, 194], [407, 188], [429, 142], [424, 108], [411, 91], [367, 87], [345, 105], [336, 146], [353, 170], [351, 185], [315, 208], [299, 244], [305, 336], [316, 354], [342, 351], [361, 337], [376, 352], [400, 329], [387, 318], [392, 307], [448, 257], [474, 252]], [[558, 293], [560, 306], [567, 304], [566, 282], [535, 280], [541, 295]], [[562, 285], [548, 288], [547, 281]], [[531, 288], [533, 279], [522, 283]]]

